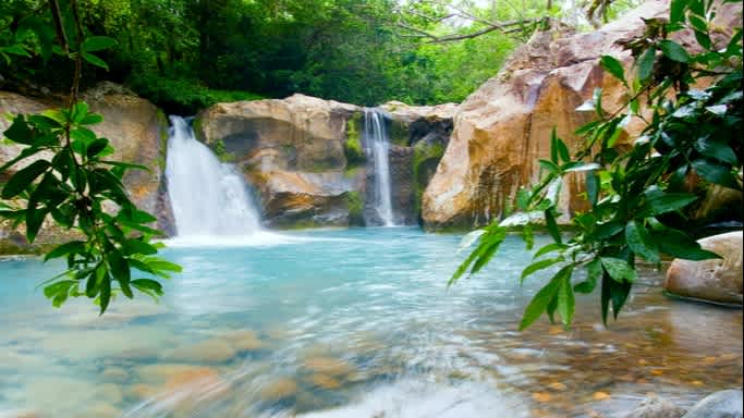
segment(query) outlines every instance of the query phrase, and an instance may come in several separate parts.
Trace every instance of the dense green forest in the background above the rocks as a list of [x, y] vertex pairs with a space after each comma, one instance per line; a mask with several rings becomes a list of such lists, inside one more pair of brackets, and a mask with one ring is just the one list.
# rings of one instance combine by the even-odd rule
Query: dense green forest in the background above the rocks
[[[69, 2], [59, 3], [69, 13]], [[293, 93], [367, 106], [461, 101], [547, 17], [561, 16], [550, 3], [89, 0], [80, 3], [84, 33], [111, 37], [117, 47], [101, 53], [106, 64], [86, 64], [83, 83], [124, 83], [176, 113]], [[56, 91], [68, 87], [73, 65], [33, 48], [54, 38], [44, 4], [0, 4], [0, 51], [27, 47], [5, 49], [16, 54], [0, 65], [10, 88], [28, 81]]]

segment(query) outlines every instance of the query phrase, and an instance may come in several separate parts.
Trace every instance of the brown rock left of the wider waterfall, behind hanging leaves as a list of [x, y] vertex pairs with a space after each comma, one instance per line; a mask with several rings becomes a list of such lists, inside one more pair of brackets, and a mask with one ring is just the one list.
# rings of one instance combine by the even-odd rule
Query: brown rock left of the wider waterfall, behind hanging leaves
[[[164, 115], [149, 101], [124, 90], [121, 86], [103, 83], [86, 91], [82, 96], [92, 110], [103, 115], [103, 122], [93, 125], [98, 136], [108, 138], [117, 152], [115, 160], [145, 165], [146, 171], [131, 171], [124, 177], [124, 184], [132, 200], [141, 208], [155, 213], [159, 218], [158, 226], [168, 232], [172, 225], [170, 205], [167, 201], [162, 168], [166, 162], [166, 140], [168, 124]], [[61, 103], [53, 100], [40, 101], [13, 93], [0, 91], [0, 113], [37, 113]], [[10, 122], [0, 120], [0, 131], [4, 131]], [[0, 146], [0, 164], [19, 155], [22, 147], [13, 144]], [[33, 162], [26, 159], [15, 165], [19, 170]], [[0, 179], [2, 181], [3, 179]], [[64, 239], [69, 234], [60, 231], [51, 222], [45, 223], [36, 244], [53, 244]], [[23, 231], [15, 231], [10, 225], [0, 225], [0, 253], [27, 251]]]

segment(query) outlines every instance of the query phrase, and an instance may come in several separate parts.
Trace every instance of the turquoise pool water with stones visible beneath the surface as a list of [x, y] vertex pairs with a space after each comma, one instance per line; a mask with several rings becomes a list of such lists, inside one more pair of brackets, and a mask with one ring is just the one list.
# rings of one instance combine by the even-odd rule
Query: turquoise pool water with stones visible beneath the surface
[[742, 385], [742, 311], [673, 300], [645, 271], [605, 329], [516, 332], [539, 279], [509, 239], [447, 290], [460, 236], [415, 229], [259, 235], [166, 256], [184, 267], [159, 305], [52, 308], [61, 265], [0, 261], [0, 416], [615, 417], [649, 395], [690, 405]]

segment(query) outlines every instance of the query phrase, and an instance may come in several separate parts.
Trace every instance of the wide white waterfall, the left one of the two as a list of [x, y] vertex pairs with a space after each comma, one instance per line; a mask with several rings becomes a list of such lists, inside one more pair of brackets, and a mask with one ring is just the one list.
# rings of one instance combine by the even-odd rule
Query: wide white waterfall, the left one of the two
[[260, 231], [247, 186], [196, 140], [190, 121], [170, 116], [166, 177], [179, 237], [244, 236]]

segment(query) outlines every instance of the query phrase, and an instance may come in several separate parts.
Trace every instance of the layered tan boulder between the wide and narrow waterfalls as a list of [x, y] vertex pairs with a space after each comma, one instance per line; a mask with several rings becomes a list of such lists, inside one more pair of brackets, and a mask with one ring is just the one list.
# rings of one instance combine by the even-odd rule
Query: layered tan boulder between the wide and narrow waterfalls
[[346, 225], [364, 175], [350, 170], [346, 158], [354, 151], [347, 122], [358, 112], [353, 104], [294, 95], [215, 104], [196, 116], [194, 130], [245, 174], [268, 225]]

